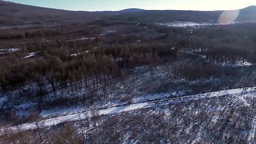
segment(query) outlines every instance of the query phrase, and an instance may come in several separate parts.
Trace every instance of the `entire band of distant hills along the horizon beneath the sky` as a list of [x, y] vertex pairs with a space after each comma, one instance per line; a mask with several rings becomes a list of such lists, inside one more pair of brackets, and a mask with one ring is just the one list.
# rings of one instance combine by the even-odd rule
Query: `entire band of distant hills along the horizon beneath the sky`
[[[96, 18], [128, 22], [217, 21], [223, 11], [144, 10], [70, 11], [23, 5], [0, 0], [0, 25], [92, 21]], [[237, 21], [256, 21], [256, 6], [240, 10]]]

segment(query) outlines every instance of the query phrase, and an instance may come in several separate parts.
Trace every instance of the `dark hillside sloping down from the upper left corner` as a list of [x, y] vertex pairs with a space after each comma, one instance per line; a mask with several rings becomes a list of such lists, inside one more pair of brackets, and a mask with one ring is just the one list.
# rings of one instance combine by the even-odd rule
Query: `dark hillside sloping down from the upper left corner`
[[90, 20], [98, 14], [28, 6], [0, 0], [0, 25], [53, 23], [68, 20]]

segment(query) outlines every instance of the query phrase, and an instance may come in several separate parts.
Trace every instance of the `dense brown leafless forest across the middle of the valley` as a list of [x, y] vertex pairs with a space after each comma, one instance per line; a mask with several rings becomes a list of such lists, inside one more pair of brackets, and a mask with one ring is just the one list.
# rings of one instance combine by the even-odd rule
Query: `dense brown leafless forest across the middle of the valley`
[[[104, 34], [111, 26], [118, 28]], [[177, 81], [206, 81], [236, 75], [232, 65], [256, 63], [252, 23], [201, 29], [146, 27], [96, 20], [0, 29], [0, 92], [16, 92], [19, 98], [42, 105], [49, 99], [61, 103], [69, 98], [93, 103], [98, 91], [103, 98], [115, 93], [115, 84], [134, 77], [138, 67], [167, 64]], [[148, 37], [148, 29], [165, 35]], [[183, 60], [188, 53], [205, 60]]]

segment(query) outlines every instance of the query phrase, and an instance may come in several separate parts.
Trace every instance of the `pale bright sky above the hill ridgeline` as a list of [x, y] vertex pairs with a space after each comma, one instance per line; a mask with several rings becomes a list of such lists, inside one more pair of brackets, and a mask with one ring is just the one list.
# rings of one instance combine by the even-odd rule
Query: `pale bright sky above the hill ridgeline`
[[5, 0], [27, 5], [83, 11], [138, 9], [230, 10], [256, 5], [256, 0]]

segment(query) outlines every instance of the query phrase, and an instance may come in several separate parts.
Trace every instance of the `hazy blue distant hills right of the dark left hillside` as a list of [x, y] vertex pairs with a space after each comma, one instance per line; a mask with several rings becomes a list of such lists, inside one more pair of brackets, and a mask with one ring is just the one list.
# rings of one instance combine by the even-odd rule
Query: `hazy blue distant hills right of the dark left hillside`
[[[168, 21], [209, 21], [218, 22], [224, 10], [196, 11], [196, 10], [138, 10], [134, 13], [120, 13], [108, 17], [110, 20], [133, 22], [168, 22]], [[256, 6], [240, 9], [236, 21], [256, 21]]]

